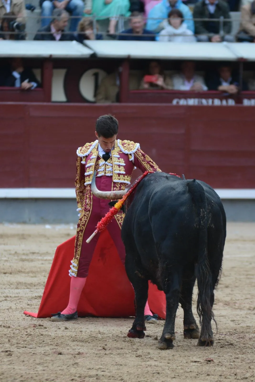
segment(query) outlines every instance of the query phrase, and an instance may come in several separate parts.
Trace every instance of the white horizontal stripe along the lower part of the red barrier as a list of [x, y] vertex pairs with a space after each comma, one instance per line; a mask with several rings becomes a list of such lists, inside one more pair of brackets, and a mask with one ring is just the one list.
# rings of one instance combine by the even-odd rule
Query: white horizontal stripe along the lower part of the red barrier
[[[252, 188], [216, 188], [221, 199], [255, 199]], [[74, 188], [0, 188], [0, 199], [74, 199]]]

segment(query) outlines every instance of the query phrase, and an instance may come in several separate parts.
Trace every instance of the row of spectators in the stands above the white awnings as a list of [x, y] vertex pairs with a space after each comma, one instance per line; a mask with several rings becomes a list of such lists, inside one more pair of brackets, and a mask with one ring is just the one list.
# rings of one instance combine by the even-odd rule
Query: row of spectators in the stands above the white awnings
[[[255, 41], [251, 0], [39, 0], [38, 6], [41, 28], [36, 40]], [[233, 36], [230, 10], [239, 6], [240, 29]], [[0, 0], [0, 39], [26, 38], [26, 9], [34, 6], [25, 0]], [[108, 23], [103, 34], [97, 25], [102, 20]]]

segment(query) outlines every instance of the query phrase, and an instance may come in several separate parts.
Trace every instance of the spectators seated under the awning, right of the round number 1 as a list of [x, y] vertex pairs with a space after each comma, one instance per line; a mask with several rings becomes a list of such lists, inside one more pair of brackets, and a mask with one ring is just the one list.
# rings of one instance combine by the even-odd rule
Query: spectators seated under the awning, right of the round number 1
[[[162, 70], [158, 61], [151, 61], [144, 73], [140, 85], [135, 74], [129, 76], [129, 89], [179, 90], [179, 91], [220, 91], [224, 95], [235, 95], [240, 91], [239, 75], [232, 70], [229, 63], [219, 63], [217, 70], [208, 72], [205, 78], [195, 71], [195, 62], [183, 61], [179, 73], [169, 76]], [[248, 90], [242, 81], [242, 90]], [[118, 70], [103, 78], [96, 94], [97, 103], [118, 102], [119, 76]]]

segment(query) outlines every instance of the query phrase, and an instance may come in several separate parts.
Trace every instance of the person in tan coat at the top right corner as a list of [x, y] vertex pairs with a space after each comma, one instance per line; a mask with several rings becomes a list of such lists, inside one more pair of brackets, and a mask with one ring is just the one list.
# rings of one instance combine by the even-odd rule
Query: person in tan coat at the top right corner
[[236, 37], [238, 42], [255, 42], [255, 1], [242, 6], [240, 31]]

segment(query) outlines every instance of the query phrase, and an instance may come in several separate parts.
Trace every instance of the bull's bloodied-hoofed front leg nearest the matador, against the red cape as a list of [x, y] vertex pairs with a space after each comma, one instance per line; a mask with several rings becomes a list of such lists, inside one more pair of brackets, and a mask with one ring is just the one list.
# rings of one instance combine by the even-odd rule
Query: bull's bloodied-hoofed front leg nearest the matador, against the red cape
[[142, 267], [137, 266], [138, 258], [134, 259], [134, 252], [131, 256], [126, 254], [125, 267], [127, 277], [131, 282], [135, 292], [136, 318], [132, 328], [127, 333], [127, 337], [144, 338], [146, 330], [144, 323], [144, 308], [148, 299], [148, 279], [145, 277]]

